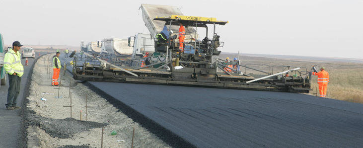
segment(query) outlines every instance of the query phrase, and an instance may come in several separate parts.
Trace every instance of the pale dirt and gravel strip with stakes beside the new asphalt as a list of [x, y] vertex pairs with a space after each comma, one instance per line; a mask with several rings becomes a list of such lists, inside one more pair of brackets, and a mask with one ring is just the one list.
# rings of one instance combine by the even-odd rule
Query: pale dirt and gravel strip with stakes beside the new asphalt
[[[53, 55], [42, 56], [35, 64], [28, 104], [26, 104], [30, 114], [26, 121], [29, 128], [33, 129], [31, 134], [37, 136], [42, 148], [73, 146], [99, 148], [101, 127], [104, 127], [104, 148], [131, 147], [133, 128], [135, 128], [134, 147], [170, 147], [87, 86], [76, 82], [69, 73], [63, 75], [64, 72], [61, 71], [60, 89], [51, 86], [51, 73], [47, 74], [47, 61], [52, 59], [51, 56]], [[64, 107], [71, 104], [70, 81], [72, 82], [72, 118], [69, 118], [71, 117], [70, 107]], [[58, 90], [60, 98], [57, 98]], [[87, 108], [87, 122], [84, 121], [86, 95], [87, 106], [90, 106]], [[112, 132], [117, 134], [111, 135]], [[28, 141], [29, 139], [28, 137]]]

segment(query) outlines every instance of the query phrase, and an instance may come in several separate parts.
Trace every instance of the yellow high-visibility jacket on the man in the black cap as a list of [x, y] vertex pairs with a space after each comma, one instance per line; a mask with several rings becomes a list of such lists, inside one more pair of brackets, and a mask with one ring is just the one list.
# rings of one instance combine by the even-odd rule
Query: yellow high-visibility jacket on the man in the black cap
[[24, 74], [23, 65], [21, 65], [21, 55], [20, 52], [14, 52], [14, 50], [10, 49], [4, 58], [4, 69], [7, 74], [16, 73], [19, 77]]

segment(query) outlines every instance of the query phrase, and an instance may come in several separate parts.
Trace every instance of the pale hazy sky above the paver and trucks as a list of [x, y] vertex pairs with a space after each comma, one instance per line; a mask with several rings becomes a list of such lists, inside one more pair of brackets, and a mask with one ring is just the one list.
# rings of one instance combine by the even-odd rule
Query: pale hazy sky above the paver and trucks
[[141, 3], [228, 20], [222, 52], [363, 59], [363, 0], [0, 0], [0, 33], [5, 44], [126, 39], [148, 33]]

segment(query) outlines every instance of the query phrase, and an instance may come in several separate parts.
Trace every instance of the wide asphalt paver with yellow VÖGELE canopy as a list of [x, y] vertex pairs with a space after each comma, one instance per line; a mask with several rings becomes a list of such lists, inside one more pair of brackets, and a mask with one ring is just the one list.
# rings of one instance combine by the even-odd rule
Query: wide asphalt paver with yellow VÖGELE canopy
[[[142, 5], [142, 8], [145, 5]], [[152, 5], [155, 8], [154, 5]], [[166, 9], [169, 9], [167, 7]], [[150, 9], [146, 8], [149, 14]], [[155, 10], [160, 10], [157, 8]], [[143, 13], [144, 14], [144, 13]], [[180, 13], [179, 13], [180, 14]], [[182, 23], [186, 28], [198, 27], [206, 30], [212, 28], [213, 34], [208, 34], [203, 40], [193, 39], [192, 34], [186, 33], [190, 40], [185, 40], [184, 49], [179, 49], [179, 41], [177, 35], [169, 33], [168, 39], [165, 40], [160, 35], [154, 38], [154, 52], [146, 58], [132, 59], [142, 60], [145, 66], [140, 65], [123, 65], [122, 63], [108, 63], [87, 55], [89, 59], [86, 61], [95, 61], [96, 63], [84, 63], [84, 61], [76, 61], [73, 67], [73, 77], [79, 80], [92, 81], [111, 81], [126, 83], [147, 83], [147, 84], [165, 84], [165, 85], [183, 85], [183, 86], [199, 86], [199, 87], [216, 87], [231, 89], [250, 89], [250, 90], [268, 90], [268, 91], [287, 91], [287, 92], [304, 92], [311, 90], [310, 77], [311, 73], [307, 68], [293, 66], [270, 66], [273, 71], [265, 72], [255, 68], [241, 65], [239, 63], [231, 63], [219, 59], [220, 47], [224, 42], [218, 35], [216, 25], [224, 26], [228, 21], [220, 21], [214, 17], [200, 16], [184, 16], [172, 14], [169, 16], [150, 15], [145, 21], [145, 25], [152, 19], [153, 24], [159, 26], [167, 26], [169, 30], [178, 28]], [[145, 20], [145, 19], [144, 19]], [[150, 27], [151, 28], [151, 27]], [[150, 34], [158, 34], [152, 32]], [[196, 32], [189, 32], [194, 33]], [[122, 61], [127, 62], [130, 60]], [[264, 72], [264, 74], [245, 74], [234, 66], [255, 70], [256, 72]], [[274, 69], [275, 68], [275, 69]], [[282, 71], [277, 71], [277, 69]], [[294, 73], [288, 75], [287, 73]]]

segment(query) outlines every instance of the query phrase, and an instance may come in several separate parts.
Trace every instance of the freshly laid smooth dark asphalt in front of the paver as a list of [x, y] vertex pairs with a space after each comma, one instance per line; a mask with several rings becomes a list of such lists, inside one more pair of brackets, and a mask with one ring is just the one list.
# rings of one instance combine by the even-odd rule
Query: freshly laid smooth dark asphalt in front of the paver
[[[124, 104], [124, 108], [119, 107], [124, 112], [131, 108], [143, 115], [139, 118], [148, 119], [136, 119], [138, 122], [151, 121], [155, 127], [167, 129], [166, 133], [201, 148], [363, 148], [363, 104], [285, 92], [89, 84], [119, 100], [114, 103]], [[147, 123], [141, 124], [153, 131]], [[179, 146], [175, 141], [162, 139]]]

